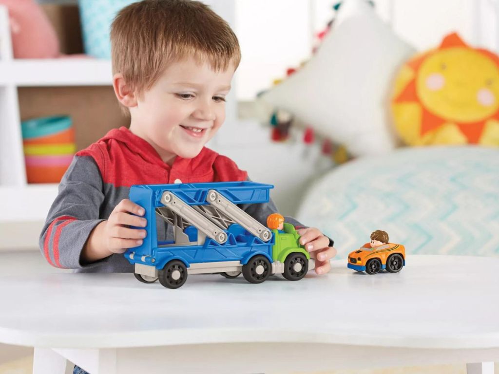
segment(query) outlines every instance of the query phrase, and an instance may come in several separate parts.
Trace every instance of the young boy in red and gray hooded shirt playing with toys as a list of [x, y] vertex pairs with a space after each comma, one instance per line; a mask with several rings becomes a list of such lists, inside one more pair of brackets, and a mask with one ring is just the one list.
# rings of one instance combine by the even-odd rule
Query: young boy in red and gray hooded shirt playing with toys
[[[130, 127], [111, 130], [75, 155], [40, 235], [51, 265], [79, 272], [133, 272], [122, 253], [142, 243], [146, 231], [129, 226], [144, 227], [146, 220], [128, 199], [130, 186], [248, 179], [232, 160], [204, 147], [224, 122], [241, 59], [222, 18], [198, 1], [144, 0], [118, 13], [111, 45], [113, 87]], [[271, 201], [244, 208], [263, 224], [276, 211]], [[159, 240], [173, 238], [161, 218], [157, 226]], [[329, 271], [332, 241], [316, 228], [299, 233], [316, 258], [316, 273]]]

